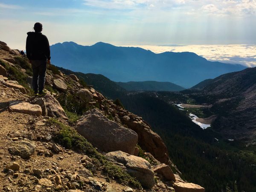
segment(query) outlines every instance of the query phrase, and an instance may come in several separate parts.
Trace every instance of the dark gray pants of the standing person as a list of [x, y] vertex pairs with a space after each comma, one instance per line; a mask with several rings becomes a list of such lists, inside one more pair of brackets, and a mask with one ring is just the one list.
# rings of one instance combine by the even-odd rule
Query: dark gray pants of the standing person
[[31, 61], [33, 70], [33, 81], [32, 86], [35, 93], [42, 92], [44, 90], [45, 73], [47, 68], [46, 60], [32, 60]]

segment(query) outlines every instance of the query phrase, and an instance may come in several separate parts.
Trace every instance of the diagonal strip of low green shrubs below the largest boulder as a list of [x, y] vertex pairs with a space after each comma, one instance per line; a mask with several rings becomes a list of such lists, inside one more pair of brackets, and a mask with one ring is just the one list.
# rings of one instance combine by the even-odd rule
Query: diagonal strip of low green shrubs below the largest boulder
[[96, 151], [84, 137], [78, 134], [73, 128], [59, 122], [57, 119], [49, 119], [49, 125], [55, 125], [60, 129], [55, 133], [55, 140], [66, 148], [82, 152], [92, 158], [93, 164], [96, 165], [98, 171], [102, 171], [110, 180], [114, 178], [119, 183], [129, 184], [138, 189], [141, 189], [141, 184], [131, 177], [120, 167], [114, 165], [105, 159], [105, 157]]

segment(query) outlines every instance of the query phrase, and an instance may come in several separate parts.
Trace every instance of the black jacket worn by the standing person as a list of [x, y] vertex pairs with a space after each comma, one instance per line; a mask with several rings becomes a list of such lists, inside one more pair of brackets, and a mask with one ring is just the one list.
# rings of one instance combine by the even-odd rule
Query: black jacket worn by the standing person
[[50, 46], [48, 39], [42, 33], [27, 32], [26, 55], [29, 60], [49, 60]]

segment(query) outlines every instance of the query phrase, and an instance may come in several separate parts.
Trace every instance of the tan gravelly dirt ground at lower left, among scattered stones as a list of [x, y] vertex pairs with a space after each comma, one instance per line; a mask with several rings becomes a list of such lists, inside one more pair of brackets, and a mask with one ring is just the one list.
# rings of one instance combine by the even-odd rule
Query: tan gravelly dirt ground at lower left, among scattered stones
[[[47, 117], [35, 117], [23, 113], [9, 113], [8, 106], [9, 101], [12, 100], [26, 100], [28, 96], [23, 93], [17, 92], [12, 88], [5, 87], [0, 84], [0, 191], [12, 191], [12, 192], [30, 192], [30, 191], [46, 191], [41, 188], [35, 182], [32, 169], [39, 169], [45, 171], [58, 170], [58, 174], [63, 175], [63, 172], [74, 173], [79, 169], [79, 162], [82, 154], [76, 153], [72, 150], [64, 149], [59, 154], [53, 154], [52, 157], [45, 157], [45, 153], [49, 150], [49, 146], [52, 145], [52, 141], [44, 141], [53, 131], [56, 131], [55, 127], [49, 127], [46, 125]], [[12, 156], [8, 149], [12, 142], [17, 138], [12, 138], [14, 132], [29, 131], [33, 134], [33, 140], [30, 141], [36, 146], [35, 153], [29, 159], [22, 159], [18, 156]], [[18, 140], [24, 140], [19, 138]], [[26, 140], [26, 139], [25, 139]], [[16, 162], [20, 165], [19, 171], [17, 171], [17, 177], [7, 174], [5, 172], [6, 164]], [[56, 174], [49, 174], [47, 178], [55, 177]], [[101, 183], [107, 183], [105, 177], [102, 175], [94, 175], [94, 178], [101, 181]], [[122, 191], [127, 186], [119, 185], [114, 181], [108, 183], [116, 191]], [[83, 189], [84, 190], [84, 189]], [[84, 191], [96, 191], [92, 186], [88, 185]]]

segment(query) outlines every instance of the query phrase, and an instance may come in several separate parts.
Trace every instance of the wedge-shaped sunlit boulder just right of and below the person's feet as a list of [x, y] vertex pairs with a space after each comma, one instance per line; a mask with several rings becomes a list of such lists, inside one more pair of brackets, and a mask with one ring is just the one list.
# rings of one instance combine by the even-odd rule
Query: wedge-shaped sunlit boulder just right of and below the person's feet
[[46, 102], [47, 116], [68, 119], [64, 109], [61, 107], [57, 99], [54, 98], [54, 96], [47, 93], [44, 96], [44, 99]]

